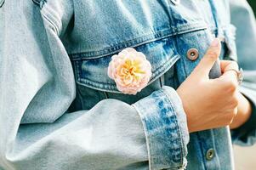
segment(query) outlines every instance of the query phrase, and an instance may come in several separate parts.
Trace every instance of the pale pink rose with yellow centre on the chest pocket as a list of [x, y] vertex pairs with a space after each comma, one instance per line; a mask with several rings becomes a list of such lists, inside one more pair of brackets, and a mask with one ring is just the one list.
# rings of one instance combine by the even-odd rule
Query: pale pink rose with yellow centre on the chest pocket
[[108, 76], [117, 84], [123, 94], [137, 94], [145, 88], [151, 78], [151, 63], [145, 54], [134, 48], [125, 48], [112, 56]]

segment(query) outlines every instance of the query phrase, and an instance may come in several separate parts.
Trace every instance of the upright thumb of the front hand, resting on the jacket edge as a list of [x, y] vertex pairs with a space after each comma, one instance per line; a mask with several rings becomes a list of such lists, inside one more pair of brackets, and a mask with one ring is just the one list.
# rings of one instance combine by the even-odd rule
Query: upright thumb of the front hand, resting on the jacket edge
[[200, 74], [200, 76], [207, 76], [212, 69], [215, 61], [219, 58], [220, 54], [220, 42], [219, 38], [213, 39], [210, 47], [208, 48], [207, 53], [203, 56], [199, 64], [196, 66], [195, 72], [196, 74]]

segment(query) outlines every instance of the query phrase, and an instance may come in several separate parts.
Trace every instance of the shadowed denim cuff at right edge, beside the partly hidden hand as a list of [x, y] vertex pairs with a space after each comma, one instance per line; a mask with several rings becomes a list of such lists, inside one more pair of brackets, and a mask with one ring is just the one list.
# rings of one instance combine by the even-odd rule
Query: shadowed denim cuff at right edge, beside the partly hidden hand
[[241, 127], [231, 130], [234, 144], [253, 145], [256, 142], [256, 93], [248, 88], [240, 88], [240, 92], [250, 101], [252, 114]]

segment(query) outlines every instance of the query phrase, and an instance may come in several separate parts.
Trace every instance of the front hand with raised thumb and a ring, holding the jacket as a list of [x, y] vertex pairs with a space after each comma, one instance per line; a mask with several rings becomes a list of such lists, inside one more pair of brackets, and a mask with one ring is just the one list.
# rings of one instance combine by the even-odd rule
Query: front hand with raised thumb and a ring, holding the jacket
[[237, 113], [236, 62], [221, 64], [223, 75], [209, 79], [208, 74], [219, 58], [220, 42], [214, 39], [207, 54], [177, 89], [187, 115], [190, 133], [230, 125]]

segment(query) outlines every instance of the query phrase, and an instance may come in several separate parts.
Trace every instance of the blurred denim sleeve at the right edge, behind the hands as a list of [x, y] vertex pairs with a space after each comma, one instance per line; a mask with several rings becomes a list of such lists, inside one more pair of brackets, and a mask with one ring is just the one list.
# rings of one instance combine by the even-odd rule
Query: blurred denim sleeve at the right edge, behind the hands
[[250, 101], [253, 112], [249, 120], [232, 130], [235, 144], [251, 145], [256, 142], [256, 23], [247, 1], [230, 0], [231, 22], [236, 26], [238, 63], [244, 70], [240, 91]]

